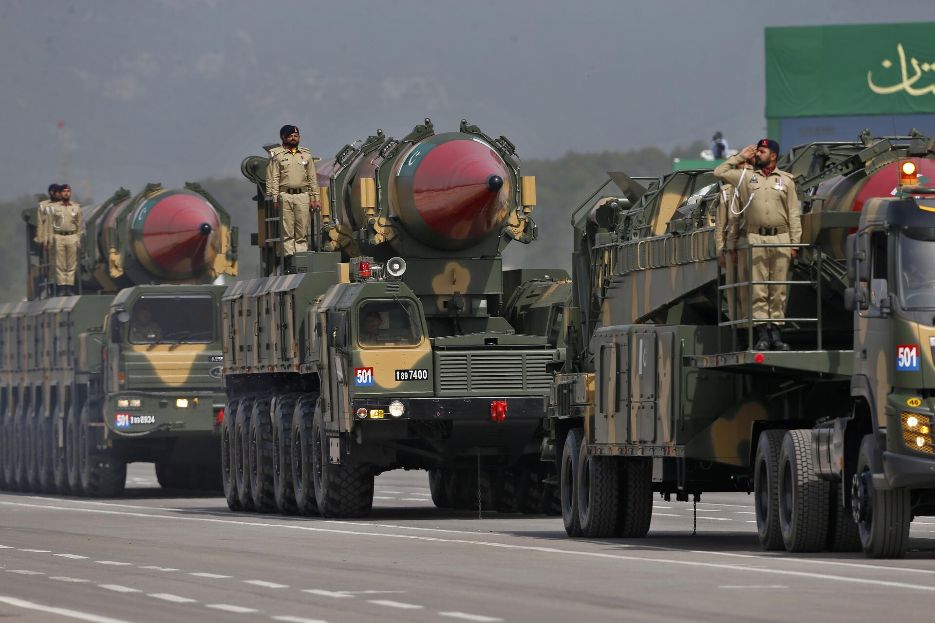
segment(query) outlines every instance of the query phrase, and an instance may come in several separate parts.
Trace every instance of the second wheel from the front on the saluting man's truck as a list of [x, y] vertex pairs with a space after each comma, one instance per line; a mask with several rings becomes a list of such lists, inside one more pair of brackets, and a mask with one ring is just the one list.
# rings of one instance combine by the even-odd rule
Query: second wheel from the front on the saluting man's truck
[[786, 432], [779, 452], [779, 528], [790, 552], [821, 551], [827, 541], [831, 483], [816, 468], [812, 432]]

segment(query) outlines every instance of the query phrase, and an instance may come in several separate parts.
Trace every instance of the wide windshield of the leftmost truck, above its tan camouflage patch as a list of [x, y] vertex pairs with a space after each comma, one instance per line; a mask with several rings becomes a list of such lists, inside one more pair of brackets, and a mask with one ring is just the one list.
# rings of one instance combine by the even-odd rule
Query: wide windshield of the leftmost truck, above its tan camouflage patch
[[130, 310], [131, 344], [208, 344], [214, 341], [210, 294], [143, 294]]

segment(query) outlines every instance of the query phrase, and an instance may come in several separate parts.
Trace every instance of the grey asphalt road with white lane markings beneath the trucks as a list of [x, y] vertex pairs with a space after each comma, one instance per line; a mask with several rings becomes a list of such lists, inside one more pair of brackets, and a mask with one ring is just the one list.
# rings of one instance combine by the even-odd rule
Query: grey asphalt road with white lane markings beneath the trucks
[[[766, 553], [752, 497], [655, 505], [640, 540], [560, 518], [440, 511], [424, 473], [377, 480], [364, 520], [235, 514], [133, 465], [119, 500], [0, 494], [4, 621], [928, 620], [935, 518], [903, 560]], [[917, 612], [913, 615], [913, 609]]]

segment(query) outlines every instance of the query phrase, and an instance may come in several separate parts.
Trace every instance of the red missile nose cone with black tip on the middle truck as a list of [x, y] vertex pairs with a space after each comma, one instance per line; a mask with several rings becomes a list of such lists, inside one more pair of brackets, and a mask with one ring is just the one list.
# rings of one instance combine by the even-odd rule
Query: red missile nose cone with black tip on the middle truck
[[468, 248], [507, 217], [510, 169], [480, 140], [442, 136], [406, 155], [396, 177], [397, 205], [406, 227], [424, 242]]

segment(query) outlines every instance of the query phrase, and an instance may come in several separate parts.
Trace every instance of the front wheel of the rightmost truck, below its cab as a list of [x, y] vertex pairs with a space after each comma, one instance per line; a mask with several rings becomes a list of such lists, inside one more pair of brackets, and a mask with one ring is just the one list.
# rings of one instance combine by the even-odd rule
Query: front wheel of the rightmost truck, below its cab
[[901, 559], [909, 547], [912, 512], [909, 489], [883, 490], [873, 487], [873, 452], [876, 442], [866, 435], [857, 455], [851, 482], [851, 504], [860, 532], [860, 545], [871, 559]]

